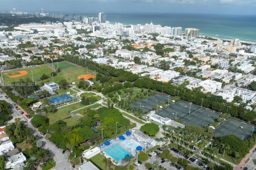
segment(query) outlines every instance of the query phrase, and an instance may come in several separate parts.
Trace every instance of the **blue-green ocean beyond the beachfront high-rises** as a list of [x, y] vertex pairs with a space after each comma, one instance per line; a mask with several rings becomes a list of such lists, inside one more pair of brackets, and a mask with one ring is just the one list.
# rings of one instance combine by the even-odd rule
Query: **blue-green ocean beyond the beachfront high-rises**
[[219, 15], [219, 14], [109, 14], [107, 20], [111, 23], [145, 24], [151, 21], [162, 26], [198, 28], [200, 35], [219, 37], [223, 39], [238, 38], [244, 41], [256, 42], [256, 16], [249, 15]]

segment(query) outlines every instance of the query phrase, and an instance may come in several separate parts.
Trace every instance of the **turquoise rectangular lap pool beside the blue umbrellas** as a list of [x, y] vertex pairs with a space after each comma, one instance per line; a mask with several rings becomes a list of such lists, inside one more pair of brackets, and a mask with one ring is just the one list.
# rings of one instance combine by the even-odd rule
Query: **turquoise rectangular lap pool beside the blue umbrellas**
[[113, 145], [108, 149], [105, 149], [104, 151], [106, 152], [107, 155], [115, 159], [117, 162], [123, 159], [126, 155], [130, 155], [128, 151], [126, 151], [124, 148], [122, 148], [119, 145]]

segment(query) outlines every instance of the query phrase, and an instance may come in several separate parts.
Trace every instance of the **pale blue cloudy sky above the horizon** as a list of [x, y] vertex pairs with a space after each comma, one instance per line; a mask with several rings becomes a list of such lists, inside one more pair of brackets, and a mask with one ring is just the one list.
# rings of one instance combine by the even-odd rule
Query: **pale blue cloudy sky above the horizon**
[[0, 11], [211, 13], [256, 15], [256, 0], [0, 0]]

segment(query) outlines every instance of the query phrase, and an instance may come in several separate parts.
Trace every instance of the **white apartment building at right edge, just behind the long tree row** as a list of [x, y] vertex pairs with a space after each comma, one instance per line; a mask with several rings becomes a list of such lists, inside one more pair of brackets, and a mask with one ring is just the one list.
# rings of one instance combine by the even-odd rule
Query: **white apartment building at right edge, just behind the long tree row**
[[244, 102], [246, 102], [247, 100], [251, 100], [256, 95], [255, 91], [234, 87], [234, 86], [230, 86], [226, 89], [223, 89], [222, 93], [233, 98], [235, 96], [239, 96], [243, 99]]

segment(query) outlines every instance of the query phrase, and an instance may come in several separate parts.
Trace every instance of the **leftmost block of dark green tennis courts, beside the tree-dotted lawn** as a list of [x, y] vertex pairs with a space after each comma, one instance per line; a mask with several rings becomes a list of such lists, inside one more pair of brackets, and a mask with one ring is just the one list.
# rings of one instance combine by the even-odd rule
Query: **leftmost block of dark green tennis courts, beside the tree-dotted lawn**
[[[156, 94], [146, 99], [137, 101], [131, 104], [131, 107], [141, 108], [142, 111], [152, 111], [154, 106], [160, 105], [161, 103], [168, 103], [168, 96]], [[170, 98], [171, 99], [171, 98]]]

